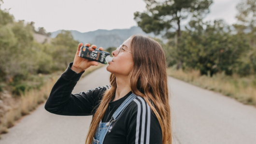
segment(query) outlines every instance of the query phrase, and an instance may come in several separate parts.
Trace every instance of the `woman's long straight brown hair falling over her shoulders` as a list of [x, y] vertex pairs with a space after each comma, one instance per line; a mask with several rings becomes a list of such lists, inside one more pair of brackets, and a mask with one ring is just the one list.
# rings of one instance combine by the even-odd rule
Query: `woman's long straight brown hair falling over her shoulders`
[[[133, 67], [128, 76], [131, 91], [143, 97], [155, 113], [162, 130], [162, 144], [171, 144], [171, 112], [163, 48], [147, 36], [133, 35], [131, 38]], [[98, 124], [115, 94], [117, 86], [113, 73], [110, 74], [110, 84], [111, 88], [105, 91], [91, 121], [85, 144], [92, 143]]]

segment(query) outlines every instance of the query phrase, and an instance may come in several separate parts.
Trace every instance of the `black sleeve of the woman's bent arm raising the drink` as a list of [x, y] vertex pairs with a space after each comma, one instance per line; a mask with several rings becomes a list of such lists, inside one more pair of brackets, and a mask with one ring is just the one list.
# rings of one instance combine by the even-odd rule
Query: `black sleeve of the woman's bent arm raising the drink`
[[[71, 94], [81, 73], [71, 70], [72, 62], [54, 84], [44, 108], [54, 114], [66, 116], [88, 116], [96, 112], [102, 94], [110, 85], [89, 89], [87, 92]], [[89, 82], [88, 82], [89, 83]]]

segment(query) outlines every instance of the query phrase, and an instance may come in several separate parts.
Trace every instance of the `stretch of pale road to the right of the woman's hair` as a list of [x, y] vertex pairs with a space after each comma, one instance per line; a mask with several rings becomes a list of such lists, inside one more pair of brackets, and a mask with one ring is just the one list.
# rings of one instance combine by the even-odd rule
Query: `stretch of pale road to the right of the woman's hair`
[[169, 78], [176, 144], [256, 144], [256, 108]]

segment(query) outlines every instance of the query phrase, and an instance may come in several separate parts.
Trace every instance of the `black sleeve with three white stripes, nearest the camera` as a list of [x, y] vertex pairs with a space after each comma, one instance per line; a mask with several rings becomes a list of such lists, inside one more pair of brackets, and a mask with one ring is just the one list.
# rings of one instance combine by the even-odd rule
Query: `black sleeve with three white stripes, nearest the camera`
[[154, 112], [145, 101], [135, 102], [137, 107], [128, 122], [127, 144], [162, 144], [161, 127]]

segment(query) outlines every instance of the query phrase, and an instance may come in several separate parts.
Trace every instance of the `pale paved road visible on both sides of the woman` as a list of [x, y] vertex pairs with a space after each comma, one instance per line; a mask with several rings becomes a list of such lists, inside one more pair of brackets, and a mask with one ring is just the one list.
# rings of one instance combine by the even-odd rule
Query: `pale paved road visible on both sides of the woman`
[[[81, 79], [73, 93], [106, 85], [108, 77], [102, 67]], [[255, 107], [171, 77], [168, 84], [173, 144], [256, 144]], [[51, 114], [42, 104], [2, 134], [0, 144], [84, 144], [91, 119]]]

